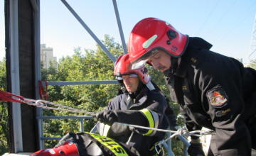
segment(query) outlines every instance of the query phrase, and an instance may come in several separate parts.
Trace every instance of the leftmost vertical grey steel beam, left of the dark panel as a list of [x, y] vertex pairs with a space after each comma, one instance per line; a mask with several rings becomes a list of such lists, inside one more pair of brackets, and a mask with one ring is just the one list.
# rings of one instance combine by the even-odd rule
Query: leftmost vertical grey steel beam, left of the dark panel
[[[11, 92], [20, 94], [18, 67], [18, 0], [10, 1], [10, 60], [11, 60]], [[23, 152], [21, 128], [21, 104], [12, 103], [14, 152]]]

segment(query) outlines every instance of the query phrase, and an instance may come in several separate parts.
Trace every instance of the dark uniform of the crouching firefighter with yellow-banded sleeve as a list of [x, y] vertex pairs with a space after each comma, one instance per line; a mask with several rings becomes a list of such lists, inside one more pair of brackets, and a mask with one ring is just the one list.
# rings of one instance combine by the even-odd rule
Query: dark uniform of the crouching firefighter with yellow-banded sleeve
[[[121, 110], [117, 113], [119, 118], [118, 122], [149, 127], [149, 122], [144, 114], [139, 111], [143, 108], [147, 108], [150, 111], [154, 111], [159, 116], [158, 128], [166, 129], [169, 127], [169, 121], [164, 115], [167, 104], [163, 95], [156, 91], [149, 91], [149, 89], [144, 87], [144, 90], [133, 101], [133, 104], [128, 111], [127, 98], [127, 94], [120, 94], [112, 99], [106, 108], [107, 110]], [[118, 142], [126, 143], [131, 134], [131, 130], [128, 129], [129, 128], [126, 126], [124, 127], [114, 123], [107, 136]], [[146, 131], [147, 130], [135, 128], [135, 133], [129, 142], [129, 145], [138, 150], [141, 155], [149, 155], [150, 148], [159, 140], [163, 140], [165, 135], [165, 133], [159, 131], [153, 136], [143, 135]]]

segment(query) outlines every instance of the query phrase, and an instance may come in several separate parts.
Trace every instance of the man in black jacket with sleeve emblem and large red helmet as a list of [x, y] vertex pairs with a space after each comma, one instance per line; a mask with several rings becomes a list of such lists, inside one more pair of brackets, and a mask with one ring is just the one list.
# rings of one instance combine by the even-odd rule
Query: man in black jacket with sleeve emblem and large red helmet
[[[212, 45], [159, 18], [139, 21], [129, 35], [132, 67], [145, 62], [164, 73], [188, 130], [215, 130], [208, 155], [251, 155], [256, 148], [256, 72]], [[191, 137], [189, 155], [204, 155]]]

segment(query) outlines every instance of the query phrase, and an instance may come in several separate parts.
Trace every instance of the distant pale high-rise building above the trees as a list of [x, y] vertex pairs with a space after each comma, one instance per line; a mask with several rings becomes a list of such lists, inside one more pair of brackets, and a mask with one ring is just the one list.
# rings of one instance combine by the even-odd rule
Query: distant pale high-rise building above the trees
[[53, 57], [53, 48], [46, 48], [46, 44], [41, 44], [41, 62], [43, 62], [43, 67], [50, 67], [50, 61], [57, 62], [57, 57]]

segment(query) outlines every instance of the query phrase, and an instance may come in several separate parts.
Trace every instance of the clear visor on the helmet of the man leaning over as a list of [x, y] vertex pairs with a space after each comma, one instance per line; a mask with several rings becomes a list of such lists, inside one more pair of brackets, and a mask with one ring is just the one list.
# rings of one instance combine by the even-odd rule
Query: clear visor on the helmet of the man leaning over
[[132, 69], [139, 69], [140, 67], [145, 65], [147, 61], [151, 60], [151, 58], [157, 54], [157, 52], [159, 52], [159, 50], [151, 50], [149, 52], [146, 52], [139, 58], [139, 60], [132, 63]]

